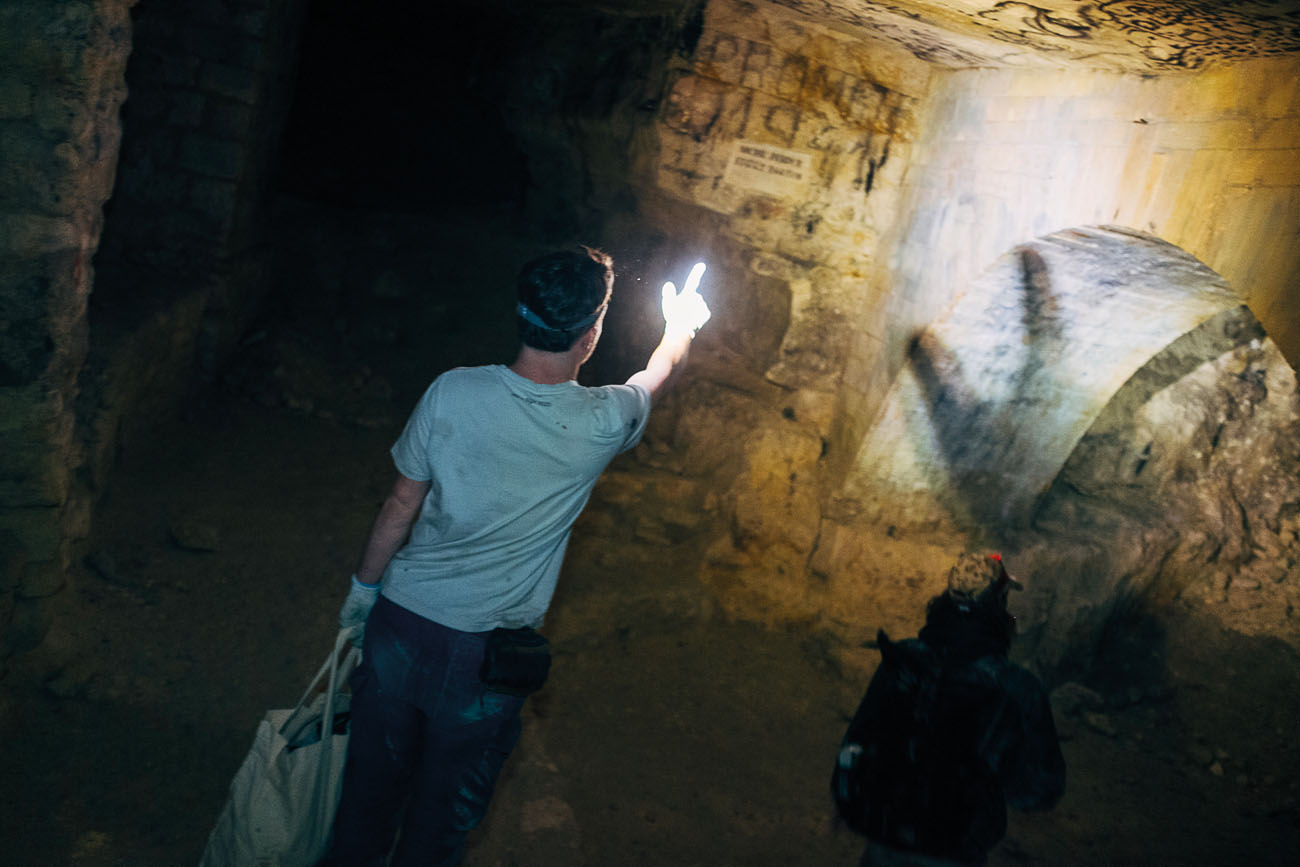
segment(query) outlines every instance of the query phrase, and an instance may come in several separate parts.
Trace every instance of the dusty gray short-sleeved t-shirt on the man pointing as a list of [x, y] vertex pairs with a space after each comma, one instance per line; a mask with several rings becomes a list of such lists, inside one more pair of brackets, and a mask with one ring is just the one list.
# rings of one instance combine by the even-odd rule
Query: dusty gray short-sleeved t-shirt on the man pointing
[[464, 632], [540, 627], [573, 521], [649, 415], [641, 386], [538, 385], [499, 364], [439, 376], [393, 446], [430, 486], [384, 595]]

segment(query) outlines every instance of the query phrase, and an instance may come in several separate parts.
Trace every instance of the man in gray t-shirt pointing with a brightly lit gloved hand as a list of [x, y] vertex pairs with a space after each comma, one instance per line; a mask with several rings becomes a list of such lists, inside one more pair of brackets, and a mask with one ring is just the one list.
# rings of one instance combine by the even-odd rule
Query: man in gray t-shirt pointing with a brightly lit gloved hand
[[364, 624], [364, 656], [325, 863], [384, 864], [394, 837], [395, 867], [460, 862], [550, 664], [530, 628], [569, 530], [708, 318], [702, 272], [680, 294], [663, 287], [663, 339], [645, 369], [592, 389], [576, 378], [601, 339], [611, 260], [589, 248], [533, 260], [516, 285], [515, 361], [448, 370], [421, 398], [339, 614], [344, 628]]

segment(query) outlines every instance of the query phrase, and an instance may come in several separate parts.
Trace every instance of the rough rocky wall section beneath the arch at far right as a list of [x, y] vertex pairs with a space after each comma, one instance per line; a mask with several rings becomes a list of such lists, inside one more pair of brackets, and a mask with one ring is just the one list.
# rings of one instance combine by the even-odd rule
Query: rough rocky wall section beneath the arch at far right
[[1079, 675], [1175, 603], [1300, 649], [1300, 391], [1247, 308], [1115, 393], [1010, 551], [1030, 576], [1018, 653], [1041, 671]]

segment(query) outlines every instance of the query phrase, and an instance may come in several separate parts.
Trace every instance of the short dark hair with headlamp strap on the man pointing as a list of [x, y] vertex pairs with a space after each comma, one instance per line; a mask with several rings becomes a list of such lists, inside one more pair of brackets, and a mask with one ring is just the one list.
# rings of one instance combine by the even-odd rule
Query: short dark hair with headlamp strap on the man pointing
[[523, 308], [519, 339], [545, 352], [567, 351], [592, 328], [612, 287], [614, 260], [599, 250], [567, 250], [526, 263], [515, 282]]

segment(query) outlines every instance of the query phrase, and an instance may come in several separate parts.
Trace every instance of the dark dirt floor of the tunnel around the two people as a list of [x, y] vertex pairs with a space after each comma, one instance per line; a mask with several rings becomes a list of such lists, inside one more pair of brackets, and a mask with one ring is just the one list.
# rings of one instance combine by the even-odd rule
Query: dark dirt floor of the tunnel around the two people
[[[325, 655], [407, 408], [442, 367], [508, 360], [478, 302], [394, 295], [346, 321], [289, 304], [124, 452], [55, 629], [0, 682], [0, 863], [198, 862], [259, 719]], [[437, 341], [404, 334], [428, 317]], [[822, 636], [728, 621], [693, 546], [627, 520], [597, 495], [576, 530], [552, 677], [467, 864], [854, 864], [827, 781], [861, 675]], [[1088, 686], [1057, 695], [1065, 799], [1013, 815], [992, 864], [1300, 864], [1294, 651], [1175, 608], [1117, 628]]]

